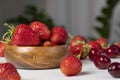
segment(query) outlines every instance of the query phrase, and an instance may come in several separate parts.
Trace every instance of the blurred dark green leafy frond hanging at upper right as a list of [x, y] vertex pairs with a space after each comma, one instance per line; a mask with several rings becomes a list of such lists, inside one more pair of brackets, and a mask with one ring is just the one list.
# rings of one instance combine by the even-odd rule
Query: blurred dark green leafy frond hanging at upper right
[[109, 39], [111, 30], [111, 18], [115, 6], [119, 0], [106, 0], [106, 6], [102, 8], [102, 15], [96, 18], [96, 21], [101, 24], [101, 26], [95, 26], [94, 29], [100, 37]]

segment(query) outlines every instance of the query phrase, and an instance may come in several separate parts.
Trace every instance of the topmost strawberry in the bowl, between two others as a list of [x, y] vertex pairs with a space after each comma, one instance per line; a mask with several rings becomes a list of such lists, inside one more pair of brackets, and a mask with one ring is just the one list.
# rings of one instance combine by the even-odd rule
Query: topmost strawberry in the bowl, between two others
[[39, 34], [39, 38], [41, 41], [49, 40], [51, 31], [45, 24], [39, 21], [34, 21], [30, 24], [30, 27], [33, 31]]

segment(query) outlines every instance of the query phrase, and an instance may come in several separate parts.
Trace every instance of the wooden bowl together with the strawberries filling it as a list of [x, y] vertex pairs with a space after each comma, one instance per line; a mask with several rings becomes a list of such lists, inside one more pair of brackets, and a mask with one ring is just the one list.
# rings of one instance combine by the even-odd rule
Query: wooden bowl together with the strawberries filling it
[[12, 30], [8, 31], [13, 31], [12, 34], [4, 35], [4, 39], [8, 43], [5, 57], [17, 68], [56, 68], [68, 55], [66, 46], [68, 34], [61, 26], [55, 26], [50, 30], [44, 23], [34, 21], [30, 25], [19, 24], [10, 29]]

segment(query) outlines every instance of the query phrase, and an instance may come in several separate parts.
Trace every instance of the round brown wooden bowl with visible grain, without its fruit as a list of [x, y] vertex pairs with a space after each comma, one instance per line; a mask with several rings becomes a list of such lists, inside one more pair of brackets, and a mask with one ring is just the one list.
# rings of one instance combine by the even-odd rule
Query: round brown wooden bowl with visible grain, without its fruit
[[8, 62], [22, 69], [57, 68], [61, 60], [68, 55], [66, 45], [50, 47], [11, 46], [5, 49]]

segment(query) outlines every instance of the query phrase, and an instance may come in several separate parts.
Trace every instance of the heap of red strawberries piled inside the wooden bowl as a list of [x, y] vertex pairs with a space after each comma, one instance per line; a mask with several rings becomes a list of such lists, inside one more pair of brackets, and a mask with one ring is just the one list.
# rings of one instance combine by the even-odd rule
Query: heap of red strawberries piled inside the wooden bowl
[[[67, 31], [61, 26], [54, 26], [51, 30], [42, 22], [34, 21], [31, 24], [6, 24], [10, 29], [4, 39], [10, 45], [17, 46], [55, 46], [64, 45], [68, 39]], [[9, 35], [9, 36], [8, 36]]]

